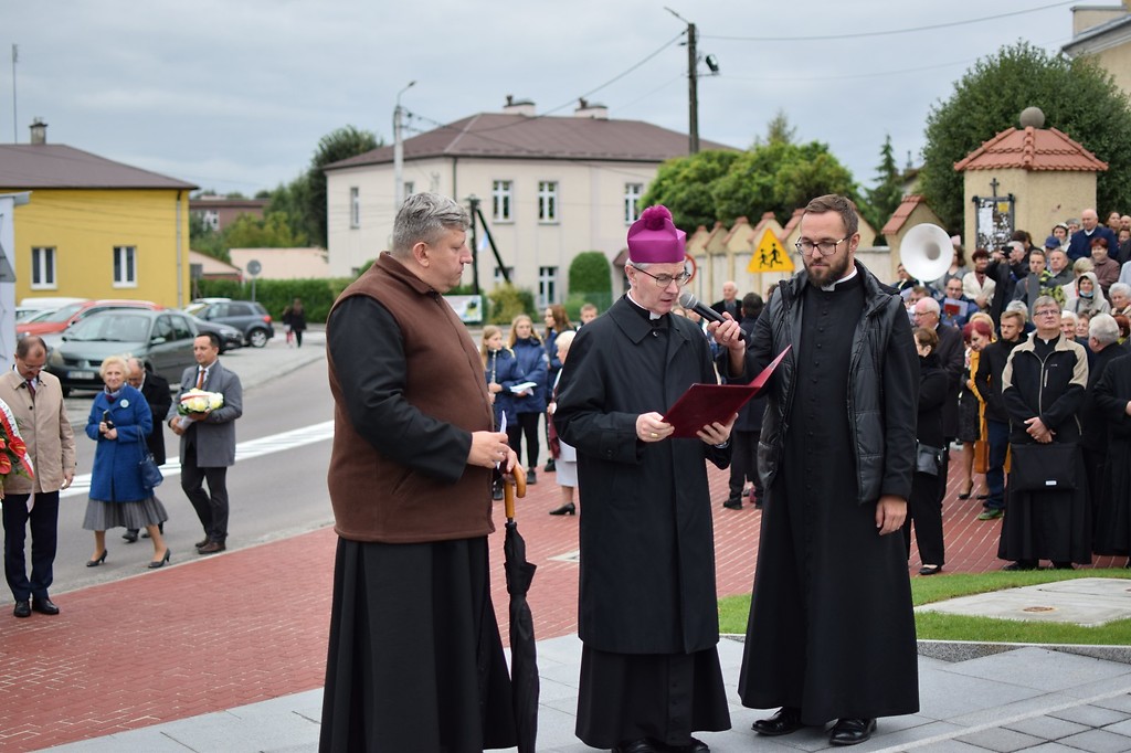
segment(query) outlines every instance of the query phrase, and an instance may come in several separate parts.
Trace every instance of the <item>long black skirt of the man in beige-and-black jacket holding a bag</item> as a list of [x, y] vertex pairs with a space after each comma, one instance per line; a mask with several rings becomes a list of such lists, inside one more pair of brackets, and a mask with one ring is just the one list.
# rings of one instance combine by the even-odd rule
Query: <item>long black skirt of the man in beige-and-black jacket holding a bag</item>
[[1091, 508], [1083, 458], [1076, 456], [1077, 487], [1068, 492], [1017, 492], [1005, 483], [1005, 517], [998, 556], [1002, 560], [1091, 562]]

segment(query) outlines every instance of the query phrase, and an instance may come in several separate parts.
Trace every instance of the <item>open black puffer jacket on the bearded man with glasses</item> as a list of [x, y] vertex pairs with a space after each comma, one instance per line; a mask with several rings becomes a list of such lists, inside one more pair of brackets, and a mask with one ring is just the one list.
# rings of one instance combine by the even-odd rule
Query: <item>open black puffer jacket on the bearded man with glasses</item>
[[[856, 269], [863, 275], [864, 311], [853, 336], [848, 393], [844, 396], [854, 434], [856, 502], [874, 504], [883, 494], [906, 500], [915, 470], [918, 355], [903, 300], [860, 261]], [[770, 380], [769, 405], [762, 419], [758, 471], [767, 488], [779, 470], [789, 431], [796, 354], [801, 348], [802, 293], [808, 284], [805, 271], [778, 284], [746, 353], [744, 379], [749, 381], [787, 345], [793, 346]], [[727, 365], [723, 357], [724, 374]], [[830, 404], [839, 399], [829, 396]]]

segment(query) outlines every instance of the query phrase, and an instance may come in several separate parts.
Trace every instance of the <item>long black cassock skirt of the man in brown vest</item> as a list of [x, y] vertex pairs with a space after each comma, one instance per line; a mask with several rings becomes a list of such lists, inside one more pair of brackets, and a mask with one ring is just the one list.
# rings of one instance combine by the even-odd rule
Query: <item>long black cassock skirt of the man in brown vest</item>
[[486, 538], [338, 539], [319, 751], [516, 744]]

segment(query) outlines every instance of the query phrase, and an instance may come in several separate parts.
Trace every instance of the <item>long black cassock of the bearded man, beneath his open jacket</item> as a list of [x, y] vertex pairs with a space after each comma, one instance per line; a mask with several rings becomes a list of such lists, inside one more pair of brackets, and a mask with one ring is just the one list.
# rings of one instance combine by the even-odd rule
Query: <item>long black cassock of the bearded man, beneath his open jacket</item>
[[[863, 274], [835, 292], [804, 287], [788, 433], [762, 509], [739, 682], [743, 706], [801, 708], [809, 725], [918, 711], [904, 537], [880, 536], [875, 504], [857, 503], [847, 396]], [[908, 343], [889, 344], [889, 365], [914, 360], [909, 332], [896, 328], [896, 337]]]

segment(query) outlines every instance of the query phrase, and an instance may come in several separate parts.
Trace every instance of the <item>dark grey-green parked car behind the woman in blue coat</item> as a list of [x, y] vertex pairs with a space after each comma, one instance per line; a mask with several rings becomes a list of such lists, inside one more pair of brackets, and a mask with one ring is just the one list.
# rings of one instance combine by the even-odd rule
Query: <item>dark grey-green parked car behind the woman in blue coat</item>
[[197, 326], [180, 311], [103, 311], [68, 329], [48, 356], [46, 367], [63, 390], [101, 390], [98, 367], [109, 355], [129, 354], [170, 384], [181, 381], [185, 367], [196, 363], [192, 339]]

